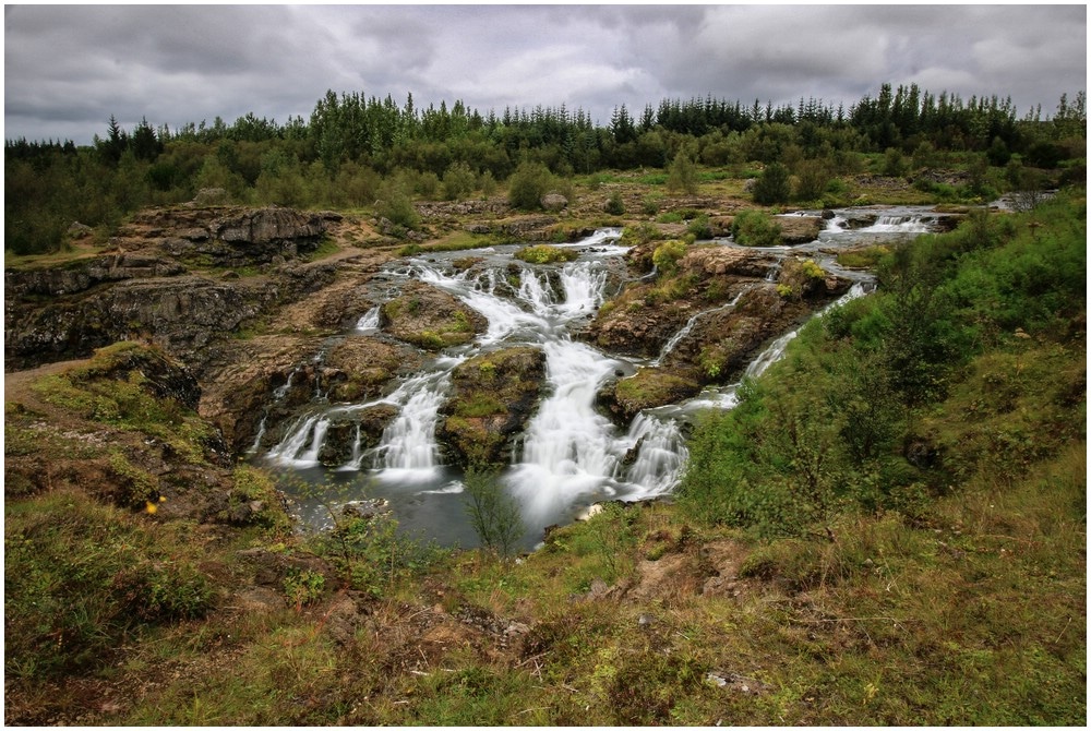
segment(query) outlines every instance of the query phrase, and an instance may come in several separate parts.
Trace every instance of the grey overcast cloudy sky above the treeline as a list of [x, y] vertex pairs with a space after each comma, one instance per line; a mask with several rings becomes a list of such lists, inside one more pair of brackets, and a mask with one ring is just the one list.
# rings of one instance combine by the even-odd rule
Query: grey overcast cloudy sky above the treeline
[[1052, 113], [1087, 87], [1087, 7], [4, 5], [5, 139], [308, 119], [326, 89], [607, 123], [708, 94], [848, 107], [886, 81]]

